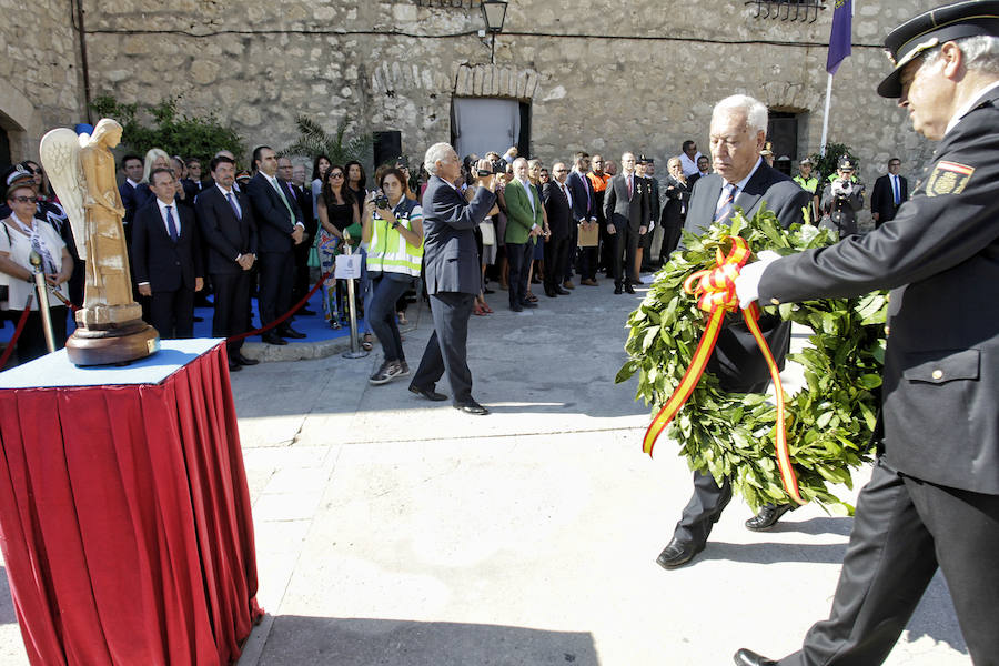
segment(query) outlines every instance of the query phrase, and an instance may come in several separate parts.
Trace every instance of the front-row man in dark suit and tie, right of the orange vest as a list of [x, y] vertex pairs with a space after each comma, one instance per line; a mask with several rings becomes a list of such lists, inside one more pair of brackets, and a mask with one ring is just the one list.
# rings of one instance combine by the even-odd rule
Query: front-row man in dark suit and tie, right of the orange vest
[[[635, 260], [638, 256], [638, 241], [648, 231], [648, 196], [645, 179], [635, 173], [635, 155], [620, 155], [622, 172], [610, 179], [604, 194], [604, 214], [607, 218], [607, 234], [614, 243], [614, 293], [622, 289], [629, 294], [635, 293], [633, 284], [638, 282], [635, 275]], [[624, 255], [624, 265], [622, 256]]]

